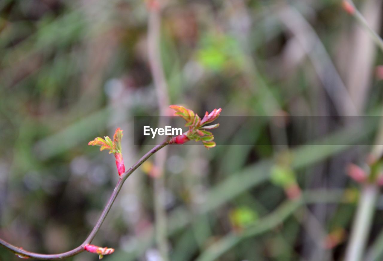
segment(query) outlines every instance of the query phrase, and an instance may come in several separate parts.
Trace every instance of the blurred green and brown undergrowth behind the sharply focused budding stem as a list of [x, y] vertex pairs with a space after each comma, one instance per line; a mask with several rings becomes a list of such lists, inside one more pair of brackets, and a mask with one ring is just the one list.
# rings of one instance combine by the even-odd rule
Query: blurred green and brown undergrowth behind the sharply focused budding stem
[[[381, 2], [357, 2], [378, 32]], [[372, 142], [376, 127], [328, 130], [340, 116], [378, 115], [382, 107], [382, 55], [369, 36], [336, 0], [161, 5], [160, 56], [171, 104], [199, 115], [221, 107], [224, 116], [328, 116], [313, 127], [329, 139], [289, 146], [306, 135], [301, 126], [286, 131], [262, 122], [228, 134], [228, 144], [236, 135], [252, 137], [247, 146], [170, 146], [170, 259], [342, 259], [360, 190], [345, 169], [365, 162], [370, 147], [353, 144]], [[88, 141], [121, 127], [127, 168], [152, 147], [133, 144], [133, 117], [158, 115], [147, 21], [139, 0], [0, 1], [4, 240], [41, 253], [80, 245], [118, 179], [113, 157]], [[270, 145], [257, 145], [260, 139]], [[116, 249], [105, 260], [161, 260], [151, 163], [126, 181], [93, 241]], [[288, 199], [291, 184], [304, 202]], [[382, 207], [379, 198], [368, 239], [374, 253], [383, 248]], [[1, 248], [0, 260], [19, 259]]]

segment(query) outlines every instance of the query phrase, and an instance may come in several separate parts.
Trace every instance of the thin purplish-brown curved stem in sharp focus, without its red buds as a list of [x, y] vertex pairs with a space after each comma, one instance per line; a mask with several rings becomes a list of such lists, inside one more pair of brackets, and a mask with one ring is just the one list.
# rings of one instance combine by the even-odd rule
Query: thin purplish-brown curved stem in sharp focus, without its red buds
[[87, 239], [76, 248], [67, 251], [65, 253], [59, 253], [59, 254], [39, 254], [34, 252], [29, 252], [26, 250], [23, 250], [22, 248], [19, 248], [17, 246], [11, 245], [10, 243], [2, 240], [0, 238], [0, 245], [2, 245], [4, 248], [7, 248], [8, 250], [12, 251], [16, 255], [22, 257], [22, 258], [34, 258], [34, 259], [40, 259], [40, 260], [55, 260], [55, 259], [62, 259], [62, 258], [68, 258], [70, 256], [75, 256], [76, 254], [79, 254], [84, 251], [84, 246], [87, 244], [90, 244], [95, 238], [98, 230], [100, 230], [100, 227], [102, 223], [104, 222], [106, 215], [108, 215], [109, 210], [111, 209], [113, 202], [115, 202], [115, 199], [121, 190], [125, 180], [142, 164], [144, 161], [146, 161], [151, 155], [153, 155], [155, 152], [159, 151], [161, 148], [165, 147], [166, 145], [170, 144], [170, 137], [167, 137], [165, 140], [163, 140], [160, 144], [156, 145], [154, 148], [149, 150], [144, 156], [142, 156], [134, 165], [129, 168], [121, 177], [118, 179], [118, 182], [116, 184], [115, 189], [113, 190], [113, 193], [111, 194], [108, 202], [106, 203], [106, 206], [104, 207], [100, 218], [98, 219], [96, 225], [93, 227], [92, 231], [88, 235]]

